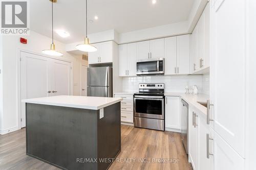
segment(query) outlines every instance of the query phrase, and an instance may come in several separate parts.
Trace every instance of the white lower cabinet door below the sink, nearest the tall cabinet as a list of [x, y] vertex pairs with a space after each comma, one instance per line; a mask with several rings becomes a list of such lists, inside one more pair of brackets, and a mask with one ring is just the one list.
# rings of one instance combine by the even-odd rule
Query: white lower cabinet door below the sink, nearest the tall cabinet
[[200, 170], [210, 169], [210, 159], [207, 158], [207, 134], [209, 134], [209, 126], [206, 124], [206, 115], [203, 113], [199, 114], [199, 123], [198, 123], [198, 147], [199, 149], [199, 164], [198, 167]]

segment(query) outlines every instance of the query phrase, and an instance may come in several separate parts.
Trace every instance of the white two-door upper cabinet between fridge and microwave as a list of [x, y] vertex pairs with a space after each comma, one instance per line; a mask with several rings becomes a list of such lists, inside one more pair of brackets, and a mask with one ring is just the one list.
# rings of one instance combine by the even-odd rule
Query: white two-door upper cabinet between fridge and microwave
[[136, 76], [137, 43], [118, 45], [119, 76]]

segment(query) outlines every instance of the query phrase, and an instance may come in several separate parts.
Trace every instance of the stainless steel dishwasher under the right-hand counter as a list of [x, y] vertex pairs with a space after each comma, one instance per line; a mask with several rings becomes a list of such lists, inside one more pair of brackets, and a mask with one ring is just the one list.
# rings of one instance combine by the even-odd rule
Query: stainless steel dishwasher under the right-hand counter
[[188, 104], [181, 100], [181, 139], [188, 154]]

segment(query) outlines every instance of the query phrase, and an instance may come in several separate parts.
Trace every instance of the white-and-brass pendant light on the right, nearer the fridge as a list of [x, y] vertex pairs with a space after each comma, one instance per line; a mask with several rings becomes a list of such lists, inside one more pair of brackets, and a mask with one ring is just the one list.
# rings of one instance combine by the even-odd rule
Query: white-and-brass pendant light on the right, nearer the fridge
[[87, 37], [87, 0], [86, 0], [86, 38], [84, 38], [84, 43], [76, 45], [76, 49], [82, 52], [96, 52], [97, 48], [93, 45], [90, 45], [89, 38]]

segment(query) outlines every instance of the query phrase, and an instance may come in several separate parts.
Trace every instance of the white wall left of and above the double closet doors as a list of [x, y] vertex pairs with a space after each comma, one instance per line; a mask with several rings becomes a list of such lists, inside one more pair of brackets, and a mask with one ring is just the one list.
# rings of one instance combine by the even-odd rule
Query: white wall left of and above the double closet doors
[[[49, 49], [51, 39], [38, 33], [30, 31], [29, 36], [22, 36], [28, 39], [28, 44], [19, 43], [19, 36], [3, 36], [3, 114], [0, 133], [7, 133], [18, 128], [18, 103], [17, 103], [17, 50], [41, 54], [41, 50]], [[56, 57], [76, 62], [76, 58], [65, 50], [65, 44], [55, 42], [56, 50], [64, 56]], [[76, 75], [74, 75], [76, 77]]]

